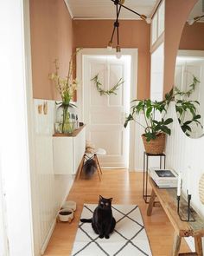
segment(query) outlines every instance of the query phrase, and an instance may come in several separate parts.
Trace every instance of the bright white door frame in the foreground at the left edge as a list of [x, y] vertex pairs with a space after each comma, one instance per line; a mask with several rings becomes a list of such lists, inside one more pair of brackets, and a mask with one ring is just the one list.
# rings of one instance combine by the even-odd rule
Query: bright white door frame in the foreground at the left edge
[[[0, 154], [8, 255], [33, 256], [31, 178], [34, 171], [29, 1], [0, 3]], [[1, 253], [0, 253], [1, 254]]]

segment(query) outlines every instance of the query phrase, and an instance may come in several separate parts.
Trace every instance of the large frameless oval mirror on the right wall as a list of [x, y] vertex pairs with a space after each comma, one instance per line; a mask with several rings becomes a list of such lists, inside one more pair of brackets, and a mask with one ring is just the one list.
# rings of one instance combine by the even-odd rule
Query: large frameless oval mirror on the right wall
[[175, 108], [182, 131], [204, 134], [204, 3], [199, 0], [182, 31], [175, 63]]

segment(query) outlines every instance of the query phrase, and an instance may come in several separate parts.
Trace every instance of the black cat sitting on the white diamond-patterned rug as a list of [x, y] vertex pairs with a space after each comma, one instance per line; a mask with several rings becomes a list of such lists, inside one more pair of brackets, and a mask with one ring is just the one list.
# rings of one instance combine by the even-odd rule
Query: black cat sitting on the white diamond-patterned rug
[[99, 195], [99, 205], [93, 212], [92, 219], [81, 219], [81, 222], [92, 223], [92, 229], [99, 234], [99, 238], [109, 239], [110, 233], [116, 226], [116, 220], [112, 216], [112, 198], [106, 199]]

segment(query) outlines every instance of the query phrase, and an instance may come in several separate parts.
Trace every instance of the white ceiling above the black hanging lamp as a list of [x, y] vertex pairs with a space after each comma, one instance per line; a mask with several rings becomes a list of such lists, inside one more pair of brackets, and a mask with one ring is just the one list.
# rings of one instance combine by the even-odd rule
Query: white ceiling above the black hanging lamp
[[[115, 19], [116, 7], [112, 0], [66, 0], [74, 19]], [[150, 16], [158, 0], [125, 0], [124, 5], [145, 16]], [[120, 19], [139, 19], [122, 8]]]

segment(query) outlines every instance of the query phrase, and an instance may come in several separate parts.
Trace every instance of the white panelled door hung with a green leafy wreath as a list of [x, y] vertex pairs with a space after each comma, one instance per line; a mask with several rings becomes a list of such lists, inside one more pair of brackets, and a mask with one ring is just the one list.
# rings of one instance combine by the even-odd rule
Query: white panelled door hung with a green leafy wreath
[[[120, 78], [124, 83], [116, 95], [100, 95], [95, 82], [110, 90]], [[96, 148], [105, 148], [106, 155], [99, 157], [102, 167], [128, 167], [129, 128], [124, 128], [125, 114], [130, 111], [131, 56], [84, 56], [83, 62], [84, 121], [86, 139]]]

